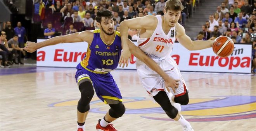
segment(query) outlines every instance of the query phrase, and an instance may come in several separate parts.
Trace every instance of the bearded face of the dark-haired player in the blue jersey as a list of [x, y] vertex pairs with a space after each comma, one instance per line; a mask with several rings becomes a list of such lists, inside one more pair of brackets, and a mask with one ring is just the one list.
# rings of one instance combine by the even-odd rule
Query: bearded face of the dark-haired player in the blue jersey
[[105, 17], [101, 18], [100, 29], [107, 35], [114, 34], [114, 20], [113, 18], [107, 19]]

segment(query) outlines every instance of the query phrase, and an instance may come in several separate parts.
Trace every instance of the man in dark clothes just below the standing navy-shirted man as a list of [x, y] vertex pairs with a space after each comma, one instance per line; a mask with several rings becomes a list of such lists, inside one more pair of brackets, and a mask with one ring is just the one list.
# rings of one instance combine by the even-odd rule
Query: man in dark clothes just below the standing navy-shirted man
[[18, 63], [15, 62], [15, 64], [24, 64], [21, 62], [21, 52], [24, 50], [19, 47], [19, 42], [18, 42], [19, 37], [17, 35], [14, 35], [14, 37], [10, 40], [8, 40], [8, 45], [10, 48], [14, 50], [14, 53], [18, 55]]

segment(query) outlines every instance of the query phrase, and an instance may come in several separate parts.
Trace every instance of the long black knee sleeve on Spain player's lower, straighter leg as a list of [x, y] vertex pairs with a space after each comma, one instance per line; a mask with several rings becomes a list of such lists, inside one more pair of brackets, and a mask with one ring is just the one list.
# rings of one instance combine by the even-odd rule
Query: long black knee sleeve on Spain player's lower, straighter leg
[[171, 105], [171, 102], [166, 92], [164, 91], [158, 92], [157, 95], [154, 96], [154, 99], [163, 108], [167, 116], [169, 116], [171, 119], [176, 118], [178, 114], [178, 110]]

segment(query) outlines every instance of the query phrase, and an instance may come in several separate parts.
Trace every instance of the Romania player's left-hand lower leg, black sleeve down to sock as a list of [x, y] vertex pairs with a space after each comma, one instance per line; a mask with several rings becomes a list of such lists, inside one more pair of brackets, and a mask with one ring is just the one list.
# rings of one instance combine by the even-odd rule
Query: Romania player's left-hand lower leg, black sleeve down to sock
[[82, 81], [78, 83], [81, 92], [81, 98], [77, 106], [77, 120], [78, 123], [84, 123], [87, 114], [90, 110], [90, 101], [92, 100], [94, 91], [90, 81]]

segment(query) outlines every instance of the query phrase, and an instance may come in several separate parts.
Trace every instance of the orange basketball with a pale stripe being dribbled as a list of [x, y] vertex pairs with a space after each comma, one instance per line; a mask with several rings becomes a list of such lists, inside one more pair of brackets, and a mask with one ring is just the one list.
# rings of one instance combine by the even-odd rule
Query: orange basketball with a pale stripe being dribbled
[[217, 37], [213, 42], [213, 52], [220, 57], [228, 57], [233, 53], [234, 42], [226, 36]]

